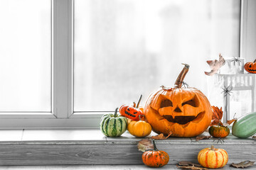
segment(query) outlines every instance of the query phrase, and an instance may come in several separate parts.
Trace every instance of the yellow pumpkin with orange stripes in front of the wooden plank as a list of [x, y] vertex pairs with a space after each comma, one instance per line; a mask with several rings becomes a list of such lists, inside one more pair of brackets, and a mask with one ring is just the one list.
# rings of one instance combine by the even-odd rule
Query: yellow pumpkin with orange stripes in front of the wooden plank
[[198, 153], [198, 162], [206, 168], [222, 168], [228, 163], [228, 153], [224, 149], [215, 149], [212, 145]]

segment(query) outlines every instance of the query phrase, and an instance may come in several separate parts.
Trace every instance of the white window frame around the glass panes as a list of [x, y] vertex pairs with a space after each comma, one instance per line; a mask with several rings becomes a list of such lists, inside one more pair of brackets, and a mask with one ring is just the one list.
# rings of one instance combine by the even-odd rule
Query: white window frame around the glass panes
[[[53, 7], [51, 112], [0, 113], [1, 129], [99, 127], [102, 112], [74, 113], [73, 111], [74, 1], [51, 1]], [[250, 60], [252, 54], [253, 57], [256, 56], [255, 0], [241, 0], [240, 21], [240, 57]]]

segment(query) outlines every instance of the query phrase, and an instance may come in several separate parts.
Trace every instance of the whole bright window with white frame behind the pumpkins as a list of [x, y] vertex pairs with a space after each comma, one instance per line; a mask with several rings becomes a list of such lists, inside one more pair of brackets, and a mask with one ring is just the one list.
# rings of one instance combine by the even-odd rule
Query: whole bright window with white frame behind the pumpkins
[[173, 86], [181, 62], [206, 94], [206, 60], [256, 45], [250, 0], [0, 3], [1, 128], [96, 128], [105, 111]]

